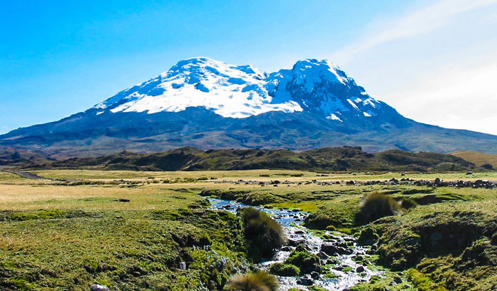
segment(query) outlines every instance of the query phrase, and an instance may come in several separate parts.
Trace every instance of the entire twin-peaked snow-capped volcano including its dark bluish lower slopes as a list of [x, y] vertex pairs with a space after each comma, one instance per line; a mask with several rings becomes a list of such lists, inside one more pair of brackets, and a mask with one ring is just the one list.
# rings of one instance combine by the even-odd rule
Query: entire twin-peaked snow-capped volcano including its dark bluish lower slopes
[[187, 59], [84, 112], [0, 136], [0, 146], [42, 149], [55, 157], [181, 146], [493, 153], [496, 145], [496, 136], [405, 118], [338, 66], [315, 59], [274, 73]]

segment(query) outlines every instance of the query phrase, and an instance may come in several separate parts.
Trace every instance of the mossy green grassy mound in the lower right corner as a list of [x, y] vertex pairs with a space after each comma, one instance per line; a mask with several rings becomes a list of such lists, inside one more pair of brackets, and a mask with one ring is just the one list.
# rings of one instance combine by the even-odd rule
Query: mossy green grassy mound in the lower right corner
[[[496, 206], [489, 202], [429, 205], [409, 215], [376, 220], [378, 254], [394, 270], [420, 272], [411, 271], [420, 290], [435, 290], [433, 286], [454, 291], [496, 290], [497, 246], [492, 243], [497, 231]], [[423, 276], [434, 282], [428, 284], [431, 287], [423, 283]]]

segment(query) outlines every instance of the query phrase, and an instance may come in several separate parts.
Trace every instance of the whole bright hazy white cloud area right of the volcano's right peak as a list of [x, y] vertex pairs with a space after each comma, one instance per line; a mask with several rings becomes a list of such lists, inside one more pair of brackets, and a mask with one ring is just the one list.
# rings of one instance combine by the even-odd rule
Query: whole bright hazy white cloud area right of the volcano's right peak
[[440, 0], [376, 23], [333, 60], [408, 118], [497, 135], [495, 4]]

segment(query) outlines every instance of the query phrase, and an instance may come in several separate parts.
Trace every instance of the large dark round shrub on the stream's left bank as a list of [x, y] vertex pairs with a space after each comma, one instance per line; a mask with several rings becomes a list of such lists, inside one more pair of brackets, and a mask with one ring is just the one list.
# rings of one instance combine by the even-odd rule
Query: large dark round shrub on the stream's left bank
[[239, 210], [245, 237], [250, 241], [249, 256], [258, 261], [269, 257], [286, 242], [283, 227], [265, 213], [248, 207]]

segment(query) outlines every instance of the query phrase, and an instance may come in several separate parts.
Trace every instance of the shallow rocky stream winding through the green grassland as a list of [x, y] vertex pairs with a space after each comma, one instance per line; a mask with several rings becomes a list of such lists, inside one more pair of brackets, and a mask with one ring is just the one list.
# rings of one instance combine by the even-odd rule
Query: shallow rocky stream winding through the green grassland
[[[209, 198], [211, 208], [220, 211], [229, 211], [236, 214], [239, 208], [252, 207], [242, 203], [229, 200]], [[287, 291], [291, 288], [309, 290], [309, 286], [318, 286], [329, 291], [343, 291], [360, 282], [368, 282], [372, 276], [380, 275], [380, 272], [369, 270], [366, 266], [360, 265], [352, 258], [366, 258], [366, 249], [355, 243], [355, 238], [346, 234], [337, 234], [327, 231], [326, 233], [332, 239], [324, 241], [323, 238], [313, 234], [309, 229], [304, 227], [304, 218], [309, 213], [298, 212], [286, 209], [266, 209], [263, 207], [253, 207], [263, 211], [278, 221], [285, 229], [289, 245], [304, 244], [310, 252], [318, 255], [321, 259], [323, 270], [329, 269], [334, 278], [324, 278], [322, 274], [314, 274], [299, 277], [281, 277], [276, 276], [280, 285], [280, 291]], [[322, 251], [322, 245], [325, 244], [330, 248], [338, 248], [342, 254], [329, 256]], [[342, 246], [347, 246], [342, 247]], [[269, 270], [269, 267], [278, 262], [285, 261], [294, 246], [285, 246], [277, 251], [273, 258], [264, 261], [258, 265], [259, 268]], [[328, 251], [328, 253], [330, 253]], [[346, 254], [345, 254], [346, 253]]]

